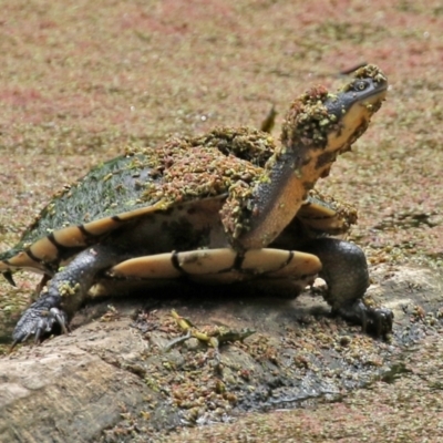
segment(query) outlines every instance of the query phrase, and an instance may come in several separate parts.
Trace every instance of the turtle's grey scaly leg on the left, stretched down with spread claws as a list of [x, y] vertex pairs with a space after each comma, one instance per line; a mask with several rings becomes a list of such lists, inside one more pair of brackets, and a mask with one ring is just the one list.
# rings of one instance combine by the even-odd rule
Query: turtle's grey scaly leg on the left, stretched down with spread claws
[[114, 266], [121, 258], [111, 248], [95, 245], [61, 268], [48, 284], [48, 290], [20, 318], [12, 333], [11, 349], [31, 336], [39, 342], [55, 324], [68, 332], [68, 321], [86, 298], [97, 272]]

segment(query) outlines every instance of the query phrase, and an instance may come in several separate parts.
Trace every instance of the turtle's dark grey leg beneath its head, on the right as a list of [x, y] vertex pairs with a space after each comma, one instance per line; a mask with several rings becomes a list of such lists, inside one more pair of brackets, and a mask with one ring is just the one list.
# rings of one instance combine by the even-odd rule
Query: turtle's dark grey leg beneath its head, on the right
[[317, 238], [302, 250], [316, 255], [322, 264], [319, 277], [328, 285], [323, 297], [332, 312], [361, 324], [363, 330], [378, 337], [392, 331], [392, 311], [363, 302], [369, 274], [364, 253], [357, 245], [334, 238]]

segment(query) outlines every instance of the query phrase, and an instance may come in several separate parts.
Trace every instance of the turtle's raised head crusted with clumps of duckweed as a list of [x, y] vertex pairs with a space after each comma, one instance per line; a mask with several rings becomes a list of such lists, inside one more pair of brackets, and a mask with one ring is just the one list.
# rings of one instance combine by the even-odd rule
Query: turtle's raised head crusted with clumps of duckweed
[[369, 64], [356, 71], [353, 79], [336, 93], [315, 86], [291, 105], [282, 126], [284, 152], [292, 152], [302, 162], [317, 157], [319, 176], [328, 175], [338, 154], [368, 128], [388, 91], [381, 70]]

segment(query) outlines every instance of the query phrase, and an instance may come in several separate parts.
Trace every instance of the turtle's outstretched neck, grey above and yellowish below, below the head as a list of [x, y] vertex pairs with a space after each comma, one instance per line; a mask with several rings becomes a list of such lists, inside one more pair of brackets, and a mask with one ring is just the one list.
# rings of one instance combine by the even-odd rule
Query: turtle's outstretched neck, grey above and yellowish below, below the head
[[[333, 158], [332, 158], [333, 157]], [[334, 154], [322, 148], [300, 148], [276, 153], [266, 164], [266, 177], [254, 189], [254, 208], [248, 230], [237, 238], [246, 248], [269, 245], [293, 219], [307, 192], [329, 172]]]

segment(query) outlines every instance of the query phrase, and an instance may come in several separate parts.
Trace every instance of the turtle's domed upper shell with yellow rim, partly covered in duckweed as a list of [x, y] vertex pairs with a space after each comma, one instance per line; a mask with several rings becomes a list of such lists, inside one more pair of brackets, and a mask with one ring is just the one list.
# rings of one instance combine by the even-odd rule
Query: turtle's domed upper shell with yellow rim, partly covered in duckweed
[[[213, 210], [219, 210], [233, 183], [241, 183], [248, 195], [274, 152], [268, 133], [247, 127], [219, 127], [198, 137], [171, 138], [161, 147], [126, 147], [124, 155], [97, 165], [55, 194], [0, 260], [9, 269], [51, 276], [72, 256], [131, 220], [156, 212], [166, 214], [174, 206], [196, 200], [203, 208], [216, 202]], [[286, 248], [297, 247], [303, 237], [342, 234], [357, 220], [357, 213], [312, 190], [297, 218], [282, 235], [290, 237], [285, 240]], [[173, 249], [204, 246], [177, 241]]]

